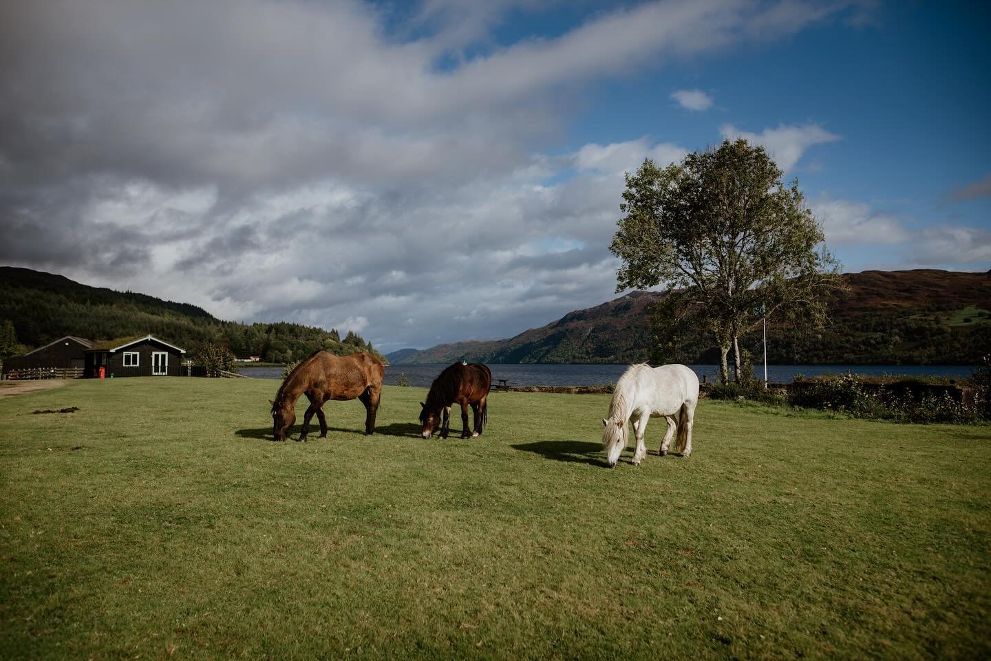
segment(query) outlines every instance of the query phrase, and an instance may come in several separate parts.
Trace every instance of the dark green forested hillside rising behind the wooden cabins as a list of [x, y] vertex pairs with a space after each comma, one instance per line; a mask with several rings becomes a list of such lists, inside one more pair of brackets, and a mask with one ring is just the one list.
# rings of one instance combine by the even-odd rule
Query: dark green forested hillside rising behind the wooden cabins
[[295, 361], [321, 348], [336, 354], [374, 351], [353, 333], [342, 340], [336, 330], [315, 326], [223, 321], [189, 303], [15, 267], [0, 267], [0, 323], [6, 320], [13, 322], [25, 350], [65, 335], [105, 340], [151, 333], [189, 355], [209, 342], [226, 345], [236, 356], [257, 355], [272, 363]]

